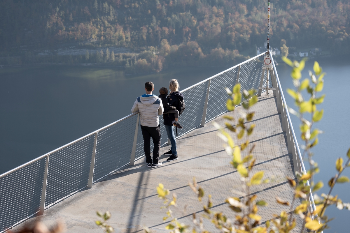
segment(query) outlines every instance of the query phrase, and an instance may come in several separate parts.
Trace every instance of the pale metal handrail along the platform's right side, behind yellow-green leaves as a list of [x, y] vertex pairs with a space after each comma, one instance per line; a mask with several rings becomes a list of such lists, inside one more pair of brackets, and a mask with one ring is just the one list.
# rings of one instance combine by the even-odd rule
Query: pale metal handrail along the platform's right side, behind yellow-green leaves
[[[281, 86], [280, 80], [279, 80], [279, 78], [278, 78], [276, 66], [275, 66], [275, 63], [274, 63], [274, 61], [273, 61], [273, 57], [272, 57], [272, 54], [271, 54], [271, 53], [270, 53], [270, 56], [271, 56], [271, 60], [272, 60], [273, 70], [274, 70], [274, 72], [275, 72], [275, 74], [276, 74], [276, 80], [277, 80], [278, 88], [280, 89], [280, 92], [281, 92], [281, 97], [282, 97], [282, 101], [283, 101], [282, 104], [283, 104], [283, 107], [285, 108], [286, 113], [287, 113], [287, 119], [288, 119], [288, 122], [289, 122], [290, 131], [292, 132], [292, 136], [293, 136], [293, 139], [294, 139], [296, 151], [297, 151], [297, 154], [298, 154], [298, 157], [299, 157], [299, 160], [300, 160], [300, 164], [301, 164], [303, 173], [306, 174], [306, 169], [305, 169], [305, 166], [304, 166], [303, 158], [302, 158], [301, 153], [300, 153], [298, 141], [296, 140], [296, 136], [295, 136], [295, 133], [294, 133], [292, 120], [290, 119], [290, 116], [289, 116], [289, 111], [288, 111], [287, 103], [286, 103], [285, 97], [284, 97], [284, 95], [283, 95], [282, 86]], [[307, 185], [310, 186], [309, 181], [307, 181]], [[313, 197], [313, 195], [312, 195], [311, 189], [310, 189], [310, 199], [311, 199], [312, 207], [313, 207], [313, 209], [315, 210], [315, 209], [316, 209], [316, 205], [315, 205], [315, 201], [314, 201], [314, 197]]]

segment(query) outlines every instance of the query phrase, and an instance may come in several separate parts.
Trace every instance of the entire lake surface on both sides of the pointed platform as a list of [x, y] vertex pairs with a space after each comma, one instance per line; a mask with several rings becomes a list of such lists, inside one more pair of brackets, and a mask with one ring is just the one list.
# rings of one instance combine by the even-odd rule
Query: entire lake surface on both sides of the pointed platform
[[[324, 134], [313, 151], [321, 169], [316, 180], [327, 184], [336, 172], [336, 158], [345, 159], [350, 147], [350, 60], [344, 57], [318, 61], [327, 73], [323, 90], [326, 97], [320, 106], [324, 117], [316, 125]], [[312, 70], [312, 66], [313, 61], [308, 61], [303, 78], [308, 77], [307, 70]], [[170, 79], [178, 79], [184, 89], [223, 70], [178, 68], [128, 76], [112, 67], [0, 69], [0, 174], [130, 114], [136, 97], [144, 94], [146, 81], [155, 83], [155, 94], [158, 94], [160, 87], [168, 87]], [[287, 104], [293, 107], [293, 99], [285, 91], [293, 88], [290, 67], [279, 64], [277, 71]], [[299, 120], [291, 117], [299, 138]], [[345, 170], [344, 175], [350, 176], [350, 169]], [[318, 194], [328, 190], [326, 185]], [[333, 194], [350, 202], [349, 192], [350, 184], [337, 184]], [[349, 232], [346, 221], [350, 219], [350, 211], [331, 207], [327, 214], [336, 219], [325, 232]]]

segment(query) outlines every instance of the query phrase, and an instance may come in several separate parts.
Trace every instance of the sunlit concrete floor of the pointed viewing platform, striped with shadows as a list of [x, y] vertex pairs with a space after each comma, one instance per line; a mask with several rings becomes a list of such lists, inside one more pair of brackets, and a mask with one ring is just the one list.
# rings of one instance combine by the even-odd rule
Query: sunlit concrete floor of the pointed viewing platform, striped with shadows
[[[285, 210], [290, 211], [289, 206], [276, 203], [276, 196], [285, 201], [292, 202], [293, 190], [290, 188], [286, 176], [294, 177], [293, 157], [287, 151], [286, 133], [282, 131], [281, 115], [277, 112], [276, 97], [263, 93], [259, 96], [259, 102], [253, 106], [256, 124], [250, 143], [257, 143], [253, 154], [256, 159], [257, 172], [265, 172], [264, 179], [270, 182], [252, 187], [252, 193], [257, 194], [258, 200], [264, 199], [268, 206], [259, 207], [258, 214], [262, 216], [261, 222], [274, 218], [273, 214], [280, 214]], [[237, 107], [235, 111], [228, 112], [239, 118]], [[214, 120], [224, 126], [225, 119], [218, 117]], [[181, 122], [181, 116], [180, 116]], [[222, 211], [233, 219], [233, 212], [225, 199], [231, 196], [239, 196], [232, 189], [241, 191], [240, 175], [230, 165], [230, 156], [225, 152], [223, 141], [216, 134], [217, 130], [208, 122], [205, 127], [195, 129], [177, 139], [177, 152], [179, 159], [168, 162], [168, 156], [161, 155], [163, 165], [157, 168], [148, 168], [145, 157], [137, 160], [134, 166], [126, 166], [110, 176], [94, 183], [91, 189], [83, 189], [77, 194], [57, 203], [45, 210], [43, 216], [33, 217], [22, 223], [14, 230], [18, 230], [24, 224], [40, 219], [45, 225], [52, 226], [57, 220], [63, 220], [66, 224], [66, 232], [103, 232], [96, 224], [98, 220], [96, 211], [109, 210], [112, 217], [108, 223], [116, 232], [142, 232], [142, 227], [147, 226], [153, 232], [169, 232], [165, 230], [168, 221], [163, 223], [166, 210], [160, 209], [163, 205], [157, 197], [156, 187], [158, 183], [175, 193], [178, 197], [177, 207], [172, 208], [174, 216], [180, 222], [190, 225], [191, 213], [202, 213], [201, 204], [194, 192], [187, 185], [196, 177], [198, 185], [205, 192], [204, 203], [207, 203], [208, 194], [212, 195], [213, 211]], [[161, 124], [162, 127], [162, 124]], [[232, 137], [236, 144], [237, 138]], [[167, 137], [162, 135], [162, 137]], [[245, 141], [245, 139], [244, 139]], [[241, 140], [239, 143], [243, 142]], [[161, 153], [167, 152], [169, 146], [161, 148]], [[299, 205], [297, 199], [295, 206]], [[184, 206], [187, 206], [184, 212]], [[294, 216], [297, 221], [301, 219]], [[212, 224], [205, 223], [204, 227], [212, 232], [219, 232]], [[295, 229], [300, 232], [300, 229]]]

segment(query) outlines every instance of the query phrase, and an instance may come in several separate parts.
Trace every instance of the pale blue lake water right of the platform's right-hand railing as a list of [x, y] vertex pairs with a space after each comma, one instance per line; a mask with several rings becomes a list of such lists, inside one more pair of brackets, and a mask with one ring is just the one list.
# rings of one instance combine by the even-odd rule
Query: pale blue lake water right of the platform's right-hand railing
[[[325, 93], [323, 104], [319, 105], [319, 109], [324, 109], [323, 118], [320, 122], [315, 124], [315, 128], [324, 131], [319, 135], [319, 144], [312, 150], [314, 160], [320, 167], [320, 173], [315, 177], [315, 180], [322, 180], [324, 187], [317, 192], [319, 196], [322, 193], [328, 193], [329, 187], [327, 185], [331, 176], [336, 174], [335, 161], [339, 156], [346, 158], [346, 152], [350, 147], [350, 108], [349, 108], [349, 88], [350, 88], [350, 62], [349, 57], [341, 58], [323, 58], [317, 59], [318, 63], [327, 73], [324, 77], [324, 88], [322, 93]], [[314, 60], [307, 61], [304, 71], [302, 72], [302, 79], [308, 78], [308, 70], [313, 70]], [[283, 93], [287, 104], [294, 108], [294, 100], [290, 97], [286, 89], [294, 88], [292, 79], [290, 78], [291, 68], [282, 62], [277, 66], [277, 72]], [[304, 97], [309, 98], [307, 94]], [[297, 138], [300, 138], [299, 125], [300, 121], [296, 116], [291, 115], [293, 128]], [[299, 146], [302, 140], [298, 140]], [[302, 150], [301, 150], [302, 151]], [[304, 164], [308, 165], [307, 161]], [[350, 177], [350, 168], [344, 170], [344, 175]], [[350, 184], [336, 184], [332, 194], [339, 194], [339, 197], [344, 202], [350, 202]], [[347, 221], [350, 219], [350, 211], [338, 210], [335, 207], [327, 209], [326, 214], [329, 217], [336, 219], [331, 221], [331, 229], [324, 232], [349, 232], [346, 227]]]

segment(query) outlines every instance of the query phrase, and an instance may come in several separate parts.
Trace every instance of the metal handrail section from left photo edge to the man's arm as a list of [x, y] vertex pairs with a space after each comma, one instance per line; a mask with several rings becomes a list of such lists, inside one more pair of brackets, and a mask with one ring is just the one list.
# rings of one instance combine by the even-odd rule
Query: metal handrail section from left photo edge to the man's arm
[[129, 117], [132, 117], [132, 116], [134, 116], [134, 115], [136, 115], [136, 114], [138, 114], [138, 113], [139, 113], [139, 111], [134, 112], [134, 113], [132, 113], [132, 114], [130, 114], [130, 115], [127, 115], [127, 116], [125, 116], [125, 117], [123, 117], [123, 118], [121, 118], [121, 119], [119, 119], [119, 120], [117, 120], [117, 121], [115, 121], [115, 122], [112, 122], [111, 124], [108, 124], [108, 125], [106, 125], [106, 126], [103, 126], [102, 128], [100, 128], [100, 129], [98, 129], [98, 130], [95, 130], [95, 131], [93, 131], [93, 132], [91, 132], [91, 133], [89, 133], [89, 134], [86, 134], [85, 136], [83, 136], [83, 137], [81, 137], [81, 138], [78, 138], [78, 139], [76, 139], [76, 140], [74, 140], [74, 141], [71, 141], [70, 143], [67, 143], [67, 144], [65, 144], [65, 145], [63, 145], [63, 146], [61, 146], [61, 147], [58, 147], [58, 148], [56, 148], [56, 149], [53, 150], [53, 151], [50, 151], [50, 152], [48, 152], [48, 153], [46, 153], [46, 154], [43, 154], [43, 155], [41, 155], [41, 156], [39, 156], [39, 157], [37, 157], [37, 158], [35, 158], [35, 159], [33, 159], [33, 160], [30, 160], [29, 162], [23, 163], [22, 165], [20, 165], [20, 166], [18, 166], [18, 167], [15, 167], [14, 169], [9, 170], [8, 172], [2, 173], [2, 174], [0, 175], [0, 178], [4, 177], [4, 176], [6, 176], [6, 175], [8, 175], [8, 174], [10, 174], [10, 173], [13, 173], [13, 172], [15, 172], [16, 170], [19, 170], [19, 169], [21, 169], [21, 168], [23, 168], [23, 167], [25, 167], [25, 166], [27, 166], [27, 165], [29, 165], [29, 164], [31, 164], [31, 163], [34, 163], [34, 162], [36, 162], [36, 161], [38, 161], [38, 160], [41, 160], [42, 158], [45, 158], [46, 156], [48, 156], [48, 155], [50, 155], [50, 154], [53, 154], [53, 153], [55, 153], [55, 152], [57, 152], [57, 151], [59, 151], [59, 150], [62, 150], [62, 149], [64, 149], [64, 148], [66, 148], [66, 147], [68, 147], [68, 146], [70, 146], [70, 145], [76, 143], [77, 141], [80, 141], [80, 140], [83, 140], [83, 139], [85, 139], [85, 138], [87, 138], [87, 137], [90, 137], [91, 135], [93, 135], [93, 134], [95, 134], [95, 133], [97, 133], [97, 132], [100, 132], [100, 131], [102, 131], [102, 130], [104, 130], [104, 129], [106, 129], [106, 128], [108, 128], [108, 127], [114, 125], [114, 124], [117, 124], [118, 122], [124, 121], [125, 119], [127, 119], [127, 118], [129, 118]]

